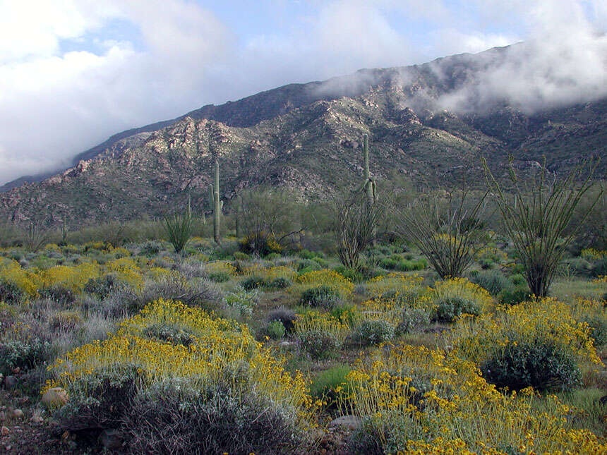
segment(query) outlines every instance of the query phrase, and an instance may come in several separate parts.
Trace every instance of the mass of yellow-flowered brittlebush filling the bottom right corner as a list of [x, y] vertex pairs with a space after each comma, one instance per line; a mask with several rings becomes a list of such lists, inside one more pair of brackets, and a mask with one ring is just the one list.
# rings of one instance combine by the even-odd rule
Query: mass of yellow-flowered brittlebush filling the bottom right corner
[[387, 453], [599, 454], [607, 446], [567, 427], [555, 396], [535, 411], [530, 389], [505, 395], [474, 363], [414, 346], [383, 346], [359, 359], [342, 384], [342, 410], [366, 419]]

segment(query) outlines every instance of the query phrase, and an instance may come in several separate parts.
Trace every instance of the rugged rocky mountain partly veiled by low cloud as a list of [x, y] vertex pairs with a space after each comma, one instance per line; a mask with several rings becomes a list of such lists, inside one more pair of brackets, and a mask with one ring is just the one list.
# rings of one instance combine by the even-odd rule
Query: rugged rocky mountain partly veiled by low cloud
[[[464, 169], [480, 177], [483, 156], [503, 174], [509, 154], [520, 169], [546, 156], [555, 172], [603, 157], [604, 175], [607, 98], [529, 109], [486, 96], [483, 75], [513, 49], [521, 44], [285, 85], [124, 131], [79, 154], [64, 172], [7, 183], [0, 219], [56, 225], [65, 216], [81, 225], [156, 217], [188, 197], [204, 210], [215, 156], [224, 199], [266, 185], [322, 197], [361, 179], [365, 133], [378, 178], [435, 176], [449, 185]], [[459, 104], [448, 109], [454, 98]]]

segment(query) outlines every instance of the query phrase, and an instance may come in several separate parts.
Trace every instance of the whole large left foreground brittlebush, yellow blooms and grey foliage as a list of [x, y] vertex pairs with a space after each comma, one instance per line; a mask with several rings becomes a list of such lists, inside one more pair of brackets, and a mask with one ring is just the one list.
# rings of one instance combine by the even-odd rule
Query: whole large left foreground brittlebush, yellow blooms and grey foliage
[[[180, 327], [193, 341], [186, 347], [145, 336], [157, 324]], [[138, 453], [289, 452], [311, 427], [314, 406], [301, 375], [285, 372], [246, 325], [179, 302], [146, 306], [115, 335], [76, 348], [51, 371], [47, 387], [70, 396], [59, 410], [64, 427], [116, 428]]]

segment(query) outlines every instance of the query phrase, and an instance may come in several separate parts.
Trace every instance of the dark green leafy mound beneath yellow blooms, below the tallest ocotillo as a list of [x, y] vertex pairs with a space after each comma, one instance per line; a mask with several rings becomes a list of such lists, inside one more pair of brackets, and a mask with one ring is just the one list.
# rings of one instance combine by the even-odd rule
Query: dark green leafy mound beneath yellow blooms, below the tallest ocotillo
[[481, 372], [498, 388], [520, 390], [567, 390], [580, 383], [581, 372], [572, 353], [550, 340], [517, 339], [505, 346], [495, 346]]

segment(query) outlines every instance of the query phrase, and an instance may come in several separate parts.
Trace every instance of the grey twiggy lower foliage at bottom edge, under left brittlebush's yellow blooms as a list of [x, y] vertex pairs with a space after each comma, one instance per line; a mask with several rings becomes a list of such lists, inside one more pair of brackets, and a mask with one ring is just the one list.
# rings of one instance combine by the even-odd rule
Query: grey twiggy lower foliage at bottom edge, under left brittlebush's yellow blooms
[[282, 454], [301, 443], [294, 416], [256, 393], [203, 393], [179, 382], [136, 396], [125, 418], [134, 453]]

